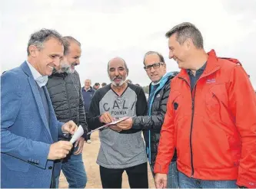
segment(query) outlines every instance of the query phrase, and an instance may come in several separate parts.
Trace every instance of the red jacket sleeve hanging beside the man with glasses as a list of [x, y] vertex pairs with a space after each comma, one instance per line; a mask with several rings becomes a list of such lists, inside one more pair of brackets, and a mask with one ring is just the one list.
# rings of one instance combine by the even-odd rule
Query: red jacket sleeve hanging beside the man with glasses
[[158, 155], [155, 161], [155, 173], [168, 174], [168, 167], [175, 152], [175, 114], [171, 93], [168, 99], [165, 121], [161, 127]]

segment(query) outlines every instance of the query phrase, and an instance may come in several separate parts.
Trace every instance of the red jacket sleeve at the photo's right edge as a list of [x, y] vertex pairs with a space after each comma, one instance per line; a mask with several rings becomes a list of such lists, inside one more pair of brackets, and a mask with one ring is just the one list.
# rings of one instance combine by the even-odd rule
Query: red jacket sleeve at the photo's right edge
[[241, 66], [231, 74], [228, 98], [242, 144], [237, 184], [256, 187], [256, 96]]

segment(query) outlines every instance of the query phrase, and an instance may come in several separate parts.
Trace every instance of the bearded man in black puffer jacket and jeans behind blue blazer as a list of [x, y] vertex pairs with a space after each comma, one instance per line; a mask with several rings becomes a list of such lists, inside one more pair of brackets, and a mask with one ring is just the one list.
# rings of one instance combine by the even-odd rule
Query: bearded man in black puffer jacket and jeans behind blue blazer
[[[48, 77], [48, 93], [52, 100], [58, 121], [74, 121], [81, 125], [85, 131], [83, 137], [75, 142], [75, 148], [62, 161], [62, 172], [67, 178], [70, 188], [84, 188], [87, 182], [85, 166], [81, 152], [87, 133], [85, 109], [81, 95], [81, 84], [75, 66], [80, 64], [81, 44], [73, 37], [63, 37], [64, 58], [60, 67], [56, 68], [52, 76]], [[70, 140], [71, 136], [62, 138]], [[58, 187], [58, 181], [57, 187]]]

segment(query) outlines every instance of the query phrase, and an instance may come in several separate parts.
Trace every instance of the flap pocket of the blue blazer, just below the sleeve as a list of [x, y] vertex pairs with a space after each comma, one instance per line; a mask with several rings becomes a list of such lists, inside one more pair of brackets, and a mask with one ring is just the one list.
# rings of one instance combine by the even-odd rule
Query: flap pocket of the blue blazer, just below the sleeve
[[10, 155], [2, 155], [2, 163], [11, 171], [28, 172], [29, 164]]

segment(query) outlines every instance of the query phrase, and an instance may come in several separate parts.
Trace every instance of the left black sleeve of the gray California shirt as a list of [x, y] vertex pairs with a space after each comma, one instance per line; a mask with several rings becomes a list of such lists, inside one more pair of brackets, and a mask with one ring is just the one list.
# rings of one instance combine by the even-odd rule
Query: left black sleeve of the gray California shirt
[[100, 90], [96, 90], [95, 94], [92, 96], [91, 105], [88, 112], [88, 126], [90, 129], [97, 129], [98, 127], [104, 125], [104, 123], [99, 121], [100, 110], [99, 110], [99, 102], [101, 100]]

